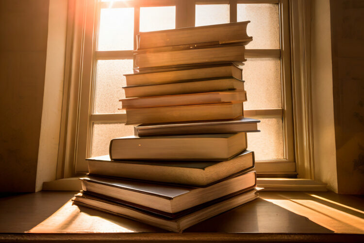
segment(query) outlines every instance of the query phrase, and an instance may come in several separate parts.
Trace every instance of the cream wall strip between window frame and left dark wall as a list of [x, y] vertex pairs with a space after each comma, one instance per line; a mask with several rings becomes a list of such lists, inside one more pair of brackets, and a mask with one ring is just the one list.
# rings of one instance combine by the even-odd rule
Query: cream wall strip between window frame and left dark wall
[[67, 0], [50, 0], [36, 191], [56, 179], [65, 72]]

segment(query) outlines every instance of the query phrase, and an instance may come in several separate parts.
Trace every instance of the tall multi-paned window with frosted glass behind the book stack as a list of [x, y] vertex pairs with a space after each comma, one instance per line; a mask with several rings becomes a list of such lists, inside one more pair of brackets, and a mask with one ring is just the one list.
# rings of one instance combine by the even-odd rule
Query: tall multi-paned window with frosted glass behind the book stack
[[[90, 1], [91, 2], [91, 1]], [[139, 31], [250, 20], [243, 77], [245, 116], [261, 120], [248, 134], [260, 174], [295, 174], [288, 0], [99, 0], [87, 3], [81, 55], [75, 172], [85, 158], [108, 153], [109, 141], [130, 136], [119, 99], [132, 73]]]

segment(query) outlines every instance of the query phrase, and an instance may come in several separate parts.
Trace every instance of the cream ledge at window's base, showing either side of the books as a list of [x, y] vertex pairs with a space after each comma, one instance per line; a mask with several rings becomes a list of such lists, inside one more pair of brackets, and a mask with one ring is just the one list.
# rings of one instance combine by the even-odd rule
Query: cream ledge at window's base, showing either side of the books
[[[309, 179], [257, 178], [257, 187], [263, 191], [327, 191], [326, 184]], [[79, 177], [70, 177], [43, 183], [43, 191], [80, 191]]]

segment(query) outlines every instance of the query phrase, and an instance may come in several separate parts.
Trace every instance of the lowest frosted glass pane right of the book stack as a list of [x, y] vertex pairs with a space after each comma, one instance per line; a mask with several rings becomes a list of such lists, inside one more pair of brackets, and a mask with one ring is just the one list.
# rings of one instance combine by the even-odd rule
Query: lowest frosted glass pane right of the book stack
[[248, 150], [255, 153], [256, 160], [283, 158], [282, 118], [261, 118], [259, 133], [248, 133]]

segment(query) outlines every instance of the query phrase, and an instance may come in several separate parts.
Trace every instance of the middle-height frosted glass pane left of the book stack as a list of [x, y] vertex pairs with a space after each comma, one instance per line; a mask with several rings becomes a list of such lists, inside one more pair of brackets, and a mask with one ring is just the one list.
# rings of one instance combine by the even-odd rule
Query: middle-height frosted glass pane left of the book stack
[[94, 113], [122, 113], [119, 99], [125, 98], [123, 74], [132, 73], [132, 59], [99, 60], [96, 71]]

